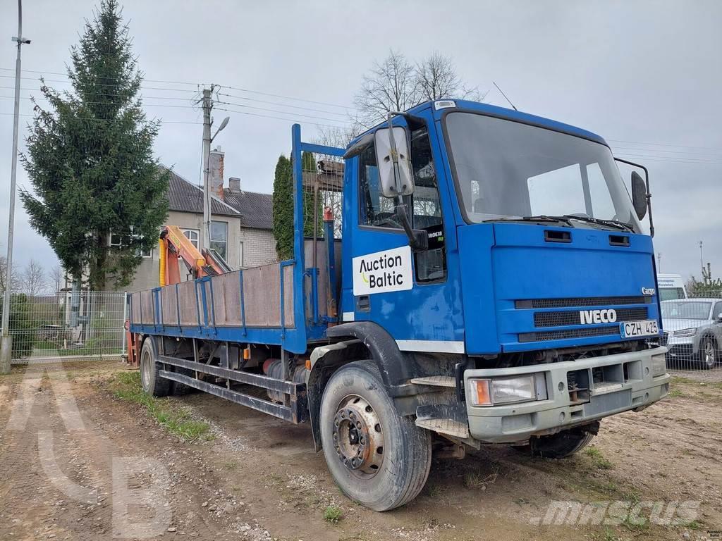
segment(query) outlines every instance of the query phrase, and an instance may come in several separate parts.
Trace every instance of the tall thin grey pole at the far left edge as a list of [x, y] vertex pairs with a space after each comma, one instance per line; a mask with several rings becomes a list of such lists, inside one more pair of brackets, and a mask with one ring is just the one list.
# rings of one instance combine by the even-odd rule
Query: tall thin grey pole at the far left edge
[[22, 0], [17, 0], [17, 60], [15, 61], [15, 109], [12, 125], [12, 169], [10, 172], [10, 217], [7, 227], [7, 268], [2, 302], [2, 335], [0, 337], [0, 374], [10, 373], [12, 337], [10, 336], [10, 295], [12, 294], [12, 241], [15, 222], [15, 179], [17, 177], [17, 132], [20, 118], [20, 50], [30, 40], [22, 37]]

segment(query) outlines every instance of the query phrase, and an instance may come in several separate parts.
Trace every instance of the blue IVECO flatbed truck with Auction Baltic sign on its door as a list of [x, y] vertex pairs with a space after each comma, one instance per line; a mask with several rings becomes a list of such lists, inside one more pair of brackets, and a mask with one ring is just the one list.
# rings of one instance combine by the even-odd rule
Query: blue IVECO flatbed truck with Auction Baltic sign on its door
[[378, 511], [433, 453], [565, 457], [666, 395], [648, 175], [627, 190], [603, 138], [460, 100], [292, 138], [291, 260], [129, 296], [147, 392], [308, 422]]

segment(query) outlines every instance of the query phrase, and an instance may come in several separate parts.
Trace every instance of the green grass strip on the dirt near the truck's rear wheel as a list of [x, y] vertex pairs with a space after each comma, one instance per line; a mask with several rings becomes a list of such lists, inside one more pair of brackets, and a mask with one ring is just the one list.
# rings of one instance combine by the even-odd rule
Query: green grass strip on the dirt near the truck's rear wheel
[[167, 398], [147, 395], [140, 384], [138, 371], [118, 372], [108, 380], [108, 388], [114, 397], [145, 408], [160, 426], [174, 436], [186, 441], [209, 441], [215, 437], [208, 423], [191, 418], [188, 409]]

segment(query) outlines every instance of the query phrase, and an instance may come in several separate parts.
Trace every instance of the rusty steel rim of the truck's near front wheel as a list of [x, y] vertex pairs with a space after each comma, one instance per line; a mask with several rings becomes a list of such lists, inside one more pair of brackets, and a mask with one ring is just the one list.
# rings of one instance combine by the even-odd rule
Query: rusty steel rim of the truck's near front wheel
[[376, 475], [383, 463], [383, 428], [363, 397], [349, 395], [336, 408], [332, 433], [339, 461], [359, 477]]

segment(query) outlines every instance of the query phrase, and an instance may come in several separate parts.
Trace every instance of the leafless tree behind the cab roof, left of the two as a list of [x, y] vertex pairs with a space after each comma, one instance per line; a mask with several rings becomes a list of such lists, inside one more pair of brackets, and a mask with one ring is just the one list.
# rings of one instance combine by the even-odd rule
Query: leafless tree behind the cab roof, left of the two
[[374, 62], [369, 74], [363, 76], [360, 92], [354, 99], [360, 110], [356, 123], [370, 128], [389, 111], [414, 107], [419, 103], [417, 86], [414, 65], [391, 49], [383, 62]]

